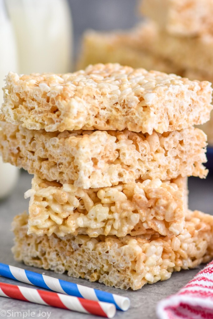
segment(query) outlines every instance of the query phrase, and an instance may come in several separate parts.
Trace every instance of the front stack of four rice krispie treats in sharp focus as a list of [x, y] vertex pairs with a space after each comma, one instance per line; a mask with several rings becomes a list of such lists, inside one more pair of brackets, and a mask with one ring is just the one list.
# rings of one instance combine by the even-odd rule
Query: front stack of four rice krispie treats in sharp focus
[[15, 217], [27, 265], [134, 290], [213, 257], [213, 217], [187, 207], [205, 178], [212, 88], [119, 64], [6, 77], [0, 152], [34, 174]]

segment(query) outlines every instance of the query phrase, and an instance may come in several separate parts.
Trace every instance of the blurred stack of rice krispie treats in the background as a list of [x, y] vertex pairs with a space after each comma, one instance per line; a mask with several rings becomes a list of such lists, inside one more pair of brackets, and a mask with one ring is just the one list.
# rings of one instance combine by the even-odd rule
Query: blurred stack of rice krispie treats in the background
[[[78, 67], [118, 62], [213, 82], [213, 1], [141, 0], [144, 22], [129, 31], [85, 33]], [[203, 129], [213, 145], [213, 118]]]

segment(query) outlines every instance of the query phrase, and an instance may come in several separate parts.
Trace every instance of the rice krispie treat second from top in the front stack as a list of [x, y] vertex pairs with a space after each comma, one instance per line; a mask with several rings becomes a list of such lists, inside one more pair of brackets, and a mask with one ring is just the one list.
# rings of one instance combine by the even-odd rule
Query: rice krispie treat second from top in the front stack
[[49, 181], [83, 189], [108, 187], [141, 178], [170, 180], [207, 175], [202, 130], [45, 132], [2, 122], [0, 153], [5, 162]]

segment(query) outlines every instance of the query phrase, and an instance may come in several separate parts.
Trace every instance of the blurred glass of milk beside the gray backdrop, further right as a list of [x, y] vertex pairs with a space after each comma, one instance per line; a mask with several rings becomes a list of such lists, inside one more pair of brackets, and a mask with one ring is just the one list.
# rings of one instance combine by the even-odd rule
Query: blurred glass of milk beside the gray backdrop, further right
[[72, 69], [72, 18], [67, 0], [5, 0], [15, 32], [19, 73]]

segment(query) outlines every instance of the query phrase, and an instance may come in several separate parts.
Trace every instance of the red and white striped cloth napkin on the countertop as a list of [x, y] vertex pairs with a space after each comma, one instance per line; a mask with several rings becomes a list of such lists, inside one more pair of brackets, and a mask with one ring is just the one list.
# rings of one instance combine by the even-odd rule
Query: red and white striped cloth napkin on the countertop
[[213, 261], [177, 294], [157, 305], [159, 319], [213, 319]]

